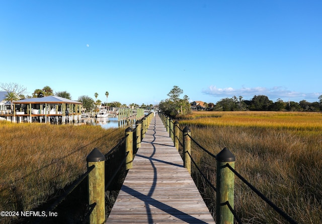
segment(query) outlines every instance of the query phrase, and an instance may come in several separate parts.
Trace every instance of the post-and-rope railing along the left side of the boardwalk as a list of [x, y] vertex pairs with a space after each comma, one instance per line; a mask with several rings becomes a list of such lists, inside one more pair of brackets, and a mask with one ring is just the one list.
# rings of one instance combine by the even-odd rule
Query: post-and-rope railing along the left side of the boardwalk
[[[153, 114], [146, 115], [141, 120], [136, 121], [136, 127], [132, 129], [128, 127], [125, 130], [124, 138], [106, 155], [103, 155], [97, 148], [87, 156], [87, 172], [81, 175], [74, 184], [72, 184], [53, 204], [47, 209], [47, 213], [52, 212], [58, 204], [63, 201], [66, 196], [71, 193], [75, 187], [81, 183], [88, 176], [88, 193], [89, 193], [89, 220], [90, 224], [105, 223], [105, 191], [108, 185], [112, 182], [112, 179], [116, 176], [117, 172], [122, 166], [125, 166], [125, 170], [132, 168], [132, 162], [135, 156], [135, 152], [141, 145], [141, 141], [145, 136], [146, 130], [150, 124]], [[111, 179], [105, 179], [105, 162], [107, 158], [117, 149], [121, 144], [125, 143], [125, 155], [120, 166], [113, 170], [114, 174]], [[35, 223], [41, 223], [43, 218], [38, 218]]]

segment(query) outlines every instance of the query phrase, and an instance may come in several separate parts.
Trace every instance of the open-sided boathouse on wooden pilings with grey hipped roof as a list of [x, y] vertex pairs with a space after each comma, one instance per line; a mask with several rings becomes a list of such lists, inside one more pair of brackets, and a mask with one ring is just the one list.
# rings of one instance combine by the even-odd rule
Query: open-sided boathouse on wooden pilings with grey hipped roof
[[[14, 119], [22, 118], [28, 122], [56, 122], [61, 121], [65, 124], [67, 121], [81, 121], [82, 102], [66, 99], [59, 96], [45, 96], [39, 98], [28, 98], [13, 101]], [[43, 120], [44, 119], [44, 120]]]

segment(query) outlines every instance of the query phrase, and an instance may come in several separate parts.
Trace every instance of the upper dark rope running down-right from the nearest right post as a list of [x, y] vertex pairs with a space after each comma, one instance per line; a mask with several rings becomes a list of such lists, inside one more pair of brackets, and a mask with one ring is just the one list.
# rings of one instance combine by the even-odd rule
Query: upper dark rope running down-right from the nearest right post
[[282, 215], [289, 223], [297, 224], [297, 222], [285, 211], [279, 208], [276, 204], [274, 204], [270, 199], [268, 199], [262, 192], [260, 192], [256, 187], [254, 187], [250, 182], [248, 182], [243, 176], [241, 176], [235, 169], [233, 169], [228, 163], [226, 164], [228, 167], [241, 181], [243, 181], [247, 186], [249, 186], [258, 196], [260, 196], [266, 203], [268, 203], [276, 212]]

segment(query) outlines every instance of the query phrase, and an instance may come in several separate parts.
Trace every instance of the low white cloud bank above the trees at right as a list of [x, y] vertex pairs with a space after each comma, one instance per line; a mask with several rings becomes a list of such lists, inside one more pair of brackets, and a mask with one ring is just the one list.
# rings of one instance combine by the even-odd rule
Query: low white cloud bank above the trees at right
[[239, 89], [234, 89], [232, 87], [226, 88], [217, 88], [215, 85], [209, 86], [207, 89], [203, 89], [202, 93], [213, 95], [216, 97], [232, 97], [235, 96], [243, 96], [244, 98], [252, 98], [254, 95], [266, 95], [270, 99], [274, 100], [277, 98], [284, 98], [284, 99], [293, 99], [296, 98], [297, 100], [313, 100], [317, 101], [317, 98], [322, 93], [303, 93], [303, 92], [296, 92], [287, 90], [285, 87], [282, 86], [274, 86], [272, 88], [266, 87], [241, 87]]

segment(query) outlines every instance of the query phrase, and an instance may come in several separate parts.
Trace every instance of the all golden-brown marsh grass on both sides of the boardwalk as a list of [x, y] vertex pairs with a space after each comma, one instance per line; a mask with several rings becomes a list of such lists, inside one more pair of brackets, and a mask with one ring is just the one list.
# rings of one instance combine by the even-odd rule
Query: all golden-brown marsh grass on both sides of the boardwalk
[[[227, 147], [235, 170], [298, 223], [321, 223], [322, 114], [205, 111], [179, 123], [213, 154]], [[0, 122], [0, 209], [28, 211], [48, 201], [86, 171], [95, 147], [105, 154], [123, 136], [124, 129]], [[192, 156], [215, 184], [214, 159], [194, 144]], [[215, 193], [195, 169], [192, 175], [214, 211]], [[234, 200], [243, 223], [287, 223], [237, 178]]]

